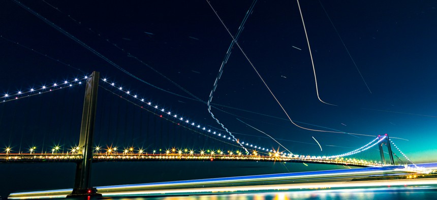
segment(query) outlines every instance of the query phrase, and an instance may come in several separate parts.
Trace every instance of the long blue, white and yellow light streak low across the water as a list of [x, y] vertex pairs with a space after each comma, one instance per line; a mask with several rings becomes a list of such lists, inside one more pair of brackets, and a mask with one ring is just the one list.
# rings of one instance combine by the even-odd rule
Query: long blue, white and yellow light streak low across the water
[[[169, 196], [346, 189], [437, 187], [437, 163], [421, 164], [430, 174], [402, 171], [402, 166], [214, 178], [97, 187], [103, 196]], [[419, 186], [419, 187], [418, 187]], [[10, 199], [64, 198], [72, 189], [20, 192]]]

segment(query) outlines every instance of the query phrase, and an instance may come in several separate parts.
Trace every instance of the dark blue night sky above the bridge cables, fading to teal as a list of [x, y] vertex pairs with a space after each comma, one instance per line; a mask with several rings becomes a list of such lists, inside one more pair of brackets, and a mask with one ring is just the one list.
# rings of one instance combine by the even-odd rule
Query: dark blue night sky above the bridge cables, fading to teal
[[[212, 1], [211, 5], [229, 31], [235, 34], [252, 2]], [[238, 43], [278, 101], [293, 120], [356, 134], [376, 136], [387, 133], [408, 140], [393, 141], [413, 161], [436, 161], [429, 155], [437, 154], [433, 142], [437, 139], [437, 3], [321, 2], [369, 89], [321, 3], [302, 1], [300, 6], [313, 53], [320, 97], [338, 106], [321, 103], [317, 98], [297, 3], [258, 1]], [[140, 79], [189, 96], [168, 81], [170, 79], [203, 101], [208, 99], [232, 41], [205, 1], [113, 3], [47, 0], [21, 3]], [[103, 77], [177, 113], [220, 127], [210, 117], [205, 104], [163, 92], [122, 73], [13, 1], [2, 1], [0, 8], [0, 92], [16, 92], [28, 86], [84, 75], [83, 72], [99, 71]], [[81, 91], [71, 93], [82, 101]], [[50, 95], [60, 98], [56, 94]], [[35, 97], [26, 101], [31, 102], [32, 98]], [[12, 105], [20, 107], [20, 101], [8, 102], [2, 105], [3, 109], [14, 110]], [[53, 105], [66, 107], [70, 102], [65, 101]], [[217, 106], [274, 138], [311, 143], [280, 141], [298, 154], [321, 153], [311, 137], [321, 143], [324, 154], [343, 152], [349, 150], [343, 147], [359, 147], [373, 139], [303, 130], [283, 120], [287, 116], [236, 46], [225, 65], [213, 103], [250, 111]], [[8, 116], [6, 110], [3, 110], [3, 120]], [[29, 109], [24, 110], [32, 113]], [[259, 138], [264, 135], [236, 120], [234, 115], [216, 109], [213, 113], [231, 131], [258, 136], [236, 135], [241, 140], [273, 144]], [[80, 116], [80, 113], [75, 115]], [[3, 127], [7, 122], [0, 123]], [[20, 140], [13, 142], [19, 143]]]

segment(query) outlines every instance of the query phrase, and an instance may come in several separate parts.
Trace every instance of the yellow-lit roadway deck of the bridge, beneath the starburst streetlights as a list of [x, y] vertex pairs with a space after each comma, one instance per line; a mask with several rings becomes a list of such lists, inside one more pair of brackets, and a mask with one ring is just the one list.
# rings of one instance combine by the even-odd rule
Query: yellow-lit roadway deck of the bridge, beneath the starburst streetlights
[[[66, 153], [3, 153], [0, 154], [0, 162], [79, 162], [82, 155]], [[377, 162], [354, 158], [324, 158], [321, 156], [263, 156], [263, 155], [226, 155], [226, 154], [107, 154], [95, 153], [93, 162], [104, 161], [261, 161], [261, 162], [300, 162], [300, 163], [320, 163], [349, 165], [359, 167], [385, 166]]]

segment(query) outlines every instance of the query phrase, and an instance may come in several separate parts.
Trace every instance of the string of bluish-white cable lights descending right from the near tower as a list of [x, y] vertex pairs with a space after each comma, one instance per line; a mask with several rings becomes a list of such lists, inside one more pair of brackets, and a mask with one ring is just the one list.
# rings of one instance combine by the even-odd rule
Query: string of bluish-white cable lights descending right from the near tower
[[[170, 117], [172, 117], [172, 118], [174, 118], [174, 119], [178, 119], [178, 120], [181, 121], [181, 122], [185, 122], [185, 124], [191, 125], [192, 127], [197, 127], [197, 128], [199, 128], [199, 129], [201, 129], [201, 130], [203, 130], [203, 131], [205, 131], [205, 132], [208, 132], [209, 134], [212, 134], [212, 135], [214, 135], [214, 136], [217, 136], [217, 137], [219, 137], [219, 138], [221, 138], [221, 139], [226, 139], [226, 140], [234, 141], [234, 142], [235, 142], [235, 140], [234, 140], [234, 139], [231, 139], [231, 137], [226, 137], [226, 134], [223, 134], [223, 133], [218, 132], [218, 131], [211, 130], [210, 128], [206, 128], [204, 125], [201, 125], [201, 124], [199, 124], [199, 123], [195, 123], [195, 122], [193, 122], [192, 120], [186, 119], [186, 117], [182, 117], [182, 116], [180, 116], [180, 115], [174, 114], [174, 113], [172, 113], [172, 112], [169, 111], [169, 110], [165, 110], [163, 107], [160, 107], [160, 106], [158, 106], [158, 105], [154, 105], [154, 104], [152, 104], [151, 101], [146, 102], [144, 98], [140, 98], [140, 97], [138, 97], [138, 95], [137, 95], [137, 94], [133, 94], [132, 91], [126, 90], [126, 89], [124, 89], [122, 86], [116, 85], [114, 82], [109, 83], [109, 82], [108, 82], [108, 79], [106, 79], [106, 78], [104, 78], [104, 79], [102, 79], [102, 80], [103, 80], [103, 82], [110, 84], [112, 87], [115, 87], [115, 88], [117, 88], [118, 90], [120, 90], [120, 91], [126, 93], [127, 95], [129, 95], [129, 96], [131, 96], [131, 97], [137, 99], [137, 101], [140, 101], [140, 102], [142, 102], [142, 103], [145, 103], [145, 104], [147, 104], [148, 106], [153, 107], [155, 110], [159, 110], [159, 111], [161, 111], [163, 114], [167, 114], [168, 116], [170, 116]], [[163, 117], [163, 115], [160, 115], [160, 116]], [[176, 123], [177, 123], [177, 122], [176, 122]], [[179, 123], [178, 123], [178, 124], [179, 124]], [[268, 153], [268, 152], [276, 152], [274, 149], [268, 149], [268, 148], [260, 147], [260, 146], [257, 146], [257, 145], [249, 144], [249, 143], [247, 143], [247, 142], [241, 142], [241, 144], [242, 144], [242, 145], [245, 145], [246, 147], [252, 147], [252, 148], [255, 148], [255, 149], [258, 149], [258, 150], [263, 150], [263, 151], [265, 151], [265, 152], [267, 152], [267, 153]], [[284, 152], [282, 152], [281, 154], [284, 154], [284, 155], [292, 155], [292, 154], [290, 154], [290, 153], [284, 153]]]

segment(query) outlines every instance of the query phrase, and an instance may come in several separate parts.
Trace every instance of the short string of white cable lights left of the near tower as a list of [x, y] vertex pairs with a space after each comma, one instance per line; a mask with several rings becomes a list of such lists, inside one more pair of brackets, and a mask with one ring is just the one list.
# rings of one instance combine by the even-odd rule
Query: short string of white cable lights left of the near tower
[[61, 89], [61, 88], [65, 88], [65, 87], [73, 87], [74, 85], [81, 85], [82, 84], [82, 80], [86, 80], [88, 78], [88, 76], [85, 76], [83, 78], [75, 78], [71, 81], [65, 80], [64, 82], [60, 82], [60, 83], [53, 83], [50, 85], [42, 85], [40, 87], [31, 87], [26, 91], [17, 91], [14, 93], [5, 93], [2, 97], [3, 102], [6, 101], [10, 101], [13, 99], [18, 99], [20, 97], [24, 97], [24, 96], [30, 96], [30, 95], [34, 95], [34, 94], [41, 94], [44, 92], [49, 92], [52, 91], [53, 89]]

